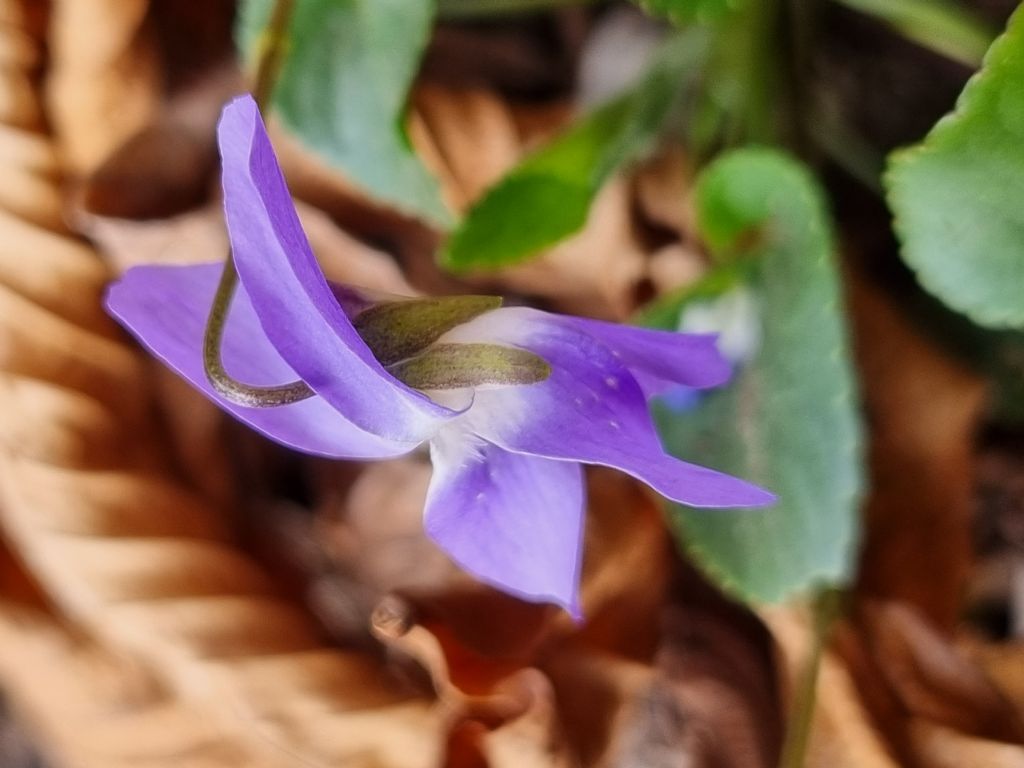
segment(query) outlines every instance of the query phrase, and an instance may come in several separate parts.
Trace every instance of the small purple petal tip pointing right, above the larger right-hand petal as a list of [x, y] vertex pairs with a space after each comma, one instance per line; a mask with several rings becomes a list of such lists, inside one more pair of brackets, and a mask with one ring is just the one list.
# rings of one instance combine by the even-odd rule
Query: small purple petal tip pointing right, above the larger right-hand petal
[[647, 396], [660, 394], [674, 384], [717, 387], [731, 375], [716, 334], [654, 331], [567, 315], [552, 316], [552, 321], [583, 331], [610, 349]]

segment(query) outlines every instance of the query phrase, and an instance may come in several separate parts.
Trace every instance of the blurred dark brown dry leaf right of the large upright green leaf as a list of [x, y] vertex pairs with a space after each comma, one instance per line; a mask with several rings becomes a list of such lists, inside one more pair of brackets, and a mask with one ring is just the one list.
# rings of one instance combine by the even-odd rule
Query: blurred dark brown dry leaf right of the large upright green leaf
[[871, 425], [858, 590], [906, 601], [951, 630], [972, 557], [973, 435], [984, 382], [923, 338], [866, 279], [854, 273], [851, 284]]

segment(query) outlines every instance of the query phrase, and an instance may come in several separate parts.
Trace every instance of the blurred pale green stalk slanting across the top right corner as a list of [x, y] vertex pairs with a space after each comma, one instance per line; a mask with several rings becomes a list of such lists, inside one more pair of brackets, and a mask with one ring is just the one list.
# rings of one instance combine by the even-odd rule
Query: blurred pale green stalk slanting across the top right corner
[[971, 69], [995, 39], [995, 31], [950, 0], [836, 0], [874, 16], [908, 40]]

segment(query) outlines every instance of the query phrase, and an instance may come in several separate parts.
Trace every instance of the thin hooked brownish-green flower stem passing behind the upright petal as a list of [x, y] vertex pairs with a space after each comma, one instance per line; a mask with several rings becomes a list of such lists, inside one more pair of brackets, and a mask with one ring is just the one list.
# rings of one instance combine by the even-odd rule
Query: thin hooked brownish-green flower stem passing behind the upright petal
[[[294, 5], [295, 0], [276, 0], [270, 12], [270, 19], [263, 31], [259, 45], [256, 81], [253, 85], [253, 98], [261, 112], [266, 110], [273, 92], [273, 83], [288, 44], [288, 23]], [[287, 406], [289, 402], [311, 397], [313, 391], [301, 380], [272, 387], [257, 387], [238, 381], [224, 370], [221, 344], [224, 339], [224, 325], [238, 283], [239, 273], [234, 268], [234, 259], [228, 251], [203, 336], [203, 367], [210, 384], [225, 399], [249, 408]]]

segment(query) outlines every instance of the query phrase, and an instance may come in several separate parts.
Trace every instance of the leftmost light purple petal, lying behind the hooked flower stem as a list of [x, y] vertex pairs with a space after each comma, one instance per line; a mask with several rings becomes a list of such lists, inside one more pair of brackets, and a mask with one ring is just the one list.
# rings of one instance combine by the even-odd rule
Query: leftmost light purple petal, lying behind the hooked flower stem
[[[221, 268], [220, 263], [133, 267], [108, 290], [106, 308], [207, 397], [279, 442], [347, 459], [389, 458], [416, 446], [359, 429], [319, 396], [278, 408], [245, 408], [218, 395], [203, 367], [203, 333]], [[250, 384], [284, 384], [296, 378], [267, 340], [244, 290], [237, 291], [231, 302], [222, 357], [229, 374]]]

